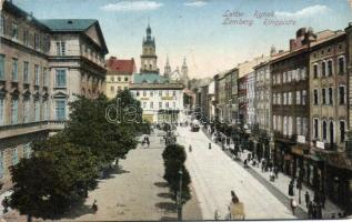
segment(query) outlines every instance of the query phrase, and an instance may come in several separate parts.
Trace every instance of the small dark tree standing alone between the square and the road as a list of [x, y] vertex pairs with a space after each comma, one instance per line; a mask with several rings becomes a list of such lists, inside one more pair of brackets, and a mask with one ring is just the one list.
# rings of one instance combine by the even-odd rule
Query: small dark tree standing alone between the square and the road
[[177, 193], [180, 185], [180, 174], [182, 171], [182, 203], [185, 203], [191, 199], [191, 192], [189, 184], [191, 183], [191, 176], [184, 167], [185, 152], [184, 148], [179, 144], [170, 144], [162, 153], [164, 160], [164, 175], [163, 178], [169, 184], [172, 192], [172, 200], [177, 201]]

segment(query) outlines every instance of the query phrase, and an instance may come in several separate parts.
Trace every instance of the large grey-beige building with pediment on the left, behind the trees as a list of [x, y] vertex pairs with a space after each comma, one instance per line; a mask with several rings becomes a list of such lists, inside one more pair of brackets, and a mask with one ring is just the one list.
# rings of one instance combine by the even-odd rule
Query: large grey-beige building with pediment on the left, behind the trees
[[30, 155], [32, 141], [63, 129], [68, 102], [103, 92], [108, 49], [97, 20], [38, 20], [11, 1], [0, 16], [0, 180], [8, 189], [9, 167]]

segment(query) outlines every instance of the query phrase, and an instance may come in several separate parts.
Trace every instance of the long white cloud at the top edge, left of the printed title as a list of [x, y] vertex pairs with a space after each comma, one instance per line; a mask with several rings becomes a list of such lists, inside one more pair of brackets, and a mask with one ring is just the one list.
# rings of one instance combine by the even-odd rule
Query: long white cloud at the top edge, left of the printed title
[[120, 1], [100, 7], [104, 11], [147, 11], [159, 9], [163, 4], [155, 1]]

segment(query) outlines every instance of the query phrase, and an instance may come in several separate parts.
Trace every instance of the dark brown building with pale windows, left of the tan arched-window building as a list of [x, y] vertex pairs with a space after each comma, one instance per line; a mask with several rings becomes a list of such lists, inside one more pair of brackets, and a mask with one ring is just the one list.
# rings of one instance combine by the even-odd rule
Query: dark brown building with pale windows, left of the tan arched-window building
[[[271, 61], [272, 124], [274, 132], [273, 161], [284, 173], [309, 179], [315, 165], [304, 158], [309, 150], [309, 42], [315, 36], [311, 29], [296, 31], [290, 50]], [[269, 158], [269, 152], [263, 154]], [[299, 169], [299, 170], [298, 170]]]

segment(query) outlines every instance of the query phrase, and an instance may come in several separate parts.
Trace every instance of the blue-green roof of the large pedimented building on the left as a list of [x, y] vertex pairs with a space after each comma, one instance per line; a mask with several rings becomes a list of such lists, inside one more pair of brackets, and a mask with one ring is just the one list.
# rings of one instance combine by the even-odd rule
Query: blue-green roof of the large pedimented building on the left
[[98, 22], [95, 19], [41, 19], [40, 21], [52, 31], [86, 31]]

